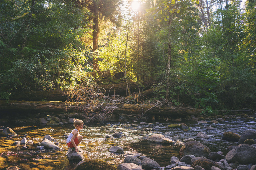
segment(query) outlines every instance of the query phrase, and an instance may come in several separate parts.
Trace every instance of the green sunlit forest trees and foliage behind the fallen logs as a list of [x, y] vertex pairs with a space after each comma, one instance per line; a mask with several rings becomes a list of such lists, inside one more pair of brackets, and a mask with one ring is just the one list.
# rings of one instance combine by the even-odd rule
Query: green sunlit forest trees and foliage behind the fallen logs
[[256, 1], [0, 5], [1, 99], [126, 80], [174, 106], [256, 108]]

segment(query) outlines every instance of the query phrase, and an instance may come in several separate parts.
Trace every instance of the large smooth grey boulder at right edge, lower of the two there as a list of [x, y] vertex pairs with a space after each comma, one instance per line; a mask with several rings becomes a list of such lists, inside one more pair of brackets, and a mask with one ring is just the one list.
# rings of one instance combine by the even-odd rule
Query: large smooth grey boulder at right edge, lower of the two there
[[229, 151], [226, 160], [239, 162], [240, 164], [256, 163], [256, 148], [249, 144], [239, 144], [236, 148]]

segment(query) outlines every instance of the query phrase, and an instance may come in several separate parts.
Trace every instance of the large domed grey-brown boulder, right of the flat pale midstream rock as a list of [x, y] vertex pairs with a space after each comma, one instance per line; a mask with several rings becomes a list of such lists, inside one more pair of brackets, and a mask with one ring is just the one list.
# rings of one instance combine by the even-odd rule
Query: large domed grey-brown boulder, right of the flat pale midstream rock
[[180, 148], [179, 155], [195, 155], [196, 157], [208, 157], [209, 153], [211, 153], [211, 150], [204, 144], [201, 144], [197, 141], [189, 141]]

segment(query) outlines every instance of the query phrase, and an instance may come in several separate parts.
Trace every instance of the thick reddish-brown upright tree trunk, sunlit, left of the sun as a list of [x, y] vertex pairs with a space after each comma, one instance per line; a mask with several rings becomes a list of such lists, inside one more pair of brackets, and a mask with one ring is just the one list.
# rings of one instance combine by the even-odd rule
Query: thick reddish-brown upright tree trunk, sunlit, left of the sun
[[[92, 52], [94, 52], [96, 49], [98, 49], [98, 35], [100, 32], [99, 29], [99, 21], [98, 21], [98, 12], [94, 13], [93, 16], [93, 47], [92, 47]], [[98, 58], [93, 56], [93, 69], [94, 70], [99, 70], [99, 65], [98, 65]]]

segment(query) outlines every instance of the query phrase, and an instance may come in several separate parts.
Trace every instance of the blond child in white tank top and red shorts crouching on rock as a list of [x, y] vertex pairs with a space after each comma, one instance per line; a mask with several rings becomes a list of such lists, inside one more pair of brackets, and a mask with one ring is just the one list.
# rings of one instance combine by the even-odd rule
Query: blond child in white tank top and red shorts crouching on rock
[[75, 119], [74, 126], [76, 129], [73, 129], [71, 131], [66, 143], [68, 144], [68, 147], [70, 147], [74, 151], [76, 150], [77, 152], [79, 151], [77, 145], [80, 144], [83, 140], [83, 137], [79, 134], [79, 130], [83, 129], [84, 122], [79, 119]]

